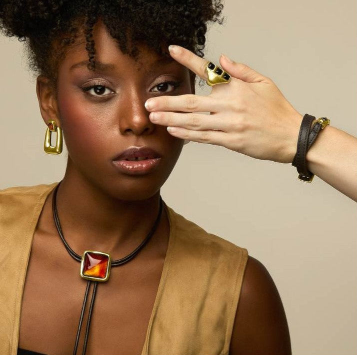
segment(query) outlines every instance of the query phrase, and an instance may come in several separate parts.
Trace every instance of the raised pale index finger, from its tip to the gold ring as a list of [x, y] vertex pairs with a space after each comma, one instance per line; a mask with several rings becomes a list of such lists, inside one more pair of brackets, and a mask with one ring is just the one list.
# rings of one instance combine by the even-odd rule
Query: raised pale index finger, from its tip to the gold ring
[[204, 80], [208, 79], [205, 71], [208, 62], [206, 59], [196, 56], [193, 52], [181, 46], [171, 45], [168, 46], [168, 50], [175, 61], [190, 69], [200, 78]]

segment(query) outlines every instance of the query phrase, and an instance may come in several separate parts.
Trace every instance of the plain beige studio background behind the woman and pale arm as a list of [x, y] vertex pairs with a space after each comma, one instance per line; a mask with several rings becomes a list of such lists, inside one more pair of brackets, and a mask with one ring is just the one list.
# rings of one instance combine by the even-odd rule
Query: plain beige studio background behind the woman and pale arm
[[[226, 0], [224, 15], [225, 25], [207, 35], [207, 59], [217, 62], [223, 52], [249, 65], [301, 114], [327, 116], [357, 135], [355, 1]], [[58, 181], [66, 154], [43, 152], [45, 126], [21, 44], [0, 36], [0, 48], [0, 188]], [[290, 164], [193, 142], [161, 192], [178, 213], [263, 262], [280, 292], [294, 354], [357, 354], [352, 200], [317, 177], [299, 182]]]

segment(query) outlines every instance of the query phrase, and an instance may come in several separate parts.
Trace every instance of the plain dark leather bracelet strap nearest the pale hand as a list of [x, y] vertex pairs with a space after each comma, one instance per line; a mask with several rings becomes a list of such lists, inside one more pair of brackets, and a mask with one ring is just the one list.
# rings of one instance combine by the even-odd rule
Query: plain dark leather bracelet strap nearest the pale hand
[[[291, 165], [295, 166], [299, 175], [309, 177], [311, 172], [307, 170], [306, 153], [308, 150], [309, 133], [314, 116], [305, 114], [301, 121], [300, 131], [297, 139], [296, 154]], [[316, 137], [315, 137], [316, 138]], [[311, 138], [312, 140], [312, 138]]]

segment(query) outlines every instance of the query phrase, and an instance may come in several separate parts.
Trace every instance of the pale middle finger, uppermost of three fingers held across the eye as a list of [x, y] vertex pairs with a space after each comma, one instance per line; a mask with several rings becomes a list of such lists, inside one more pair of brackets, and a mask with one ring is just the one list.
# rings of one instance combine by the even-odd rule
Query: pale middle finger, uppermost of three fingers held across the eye
[[158, 96], [145, 102], [148, 111], [217, 112], [222, 105], [212, 96], [184, 94]]

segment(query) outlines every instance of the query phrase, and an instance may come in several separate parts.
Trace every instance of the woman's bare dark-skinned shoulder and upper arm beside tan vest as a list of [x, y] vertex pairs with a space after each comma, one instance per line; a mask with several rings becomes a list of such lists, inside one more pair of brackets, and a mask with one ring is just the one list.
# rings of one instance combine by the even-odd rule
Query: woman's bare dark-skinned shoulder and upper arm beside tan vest
[[284, 308], [265, 266], [249, 256], [235, 314], [229, 355], [290, 355]]

